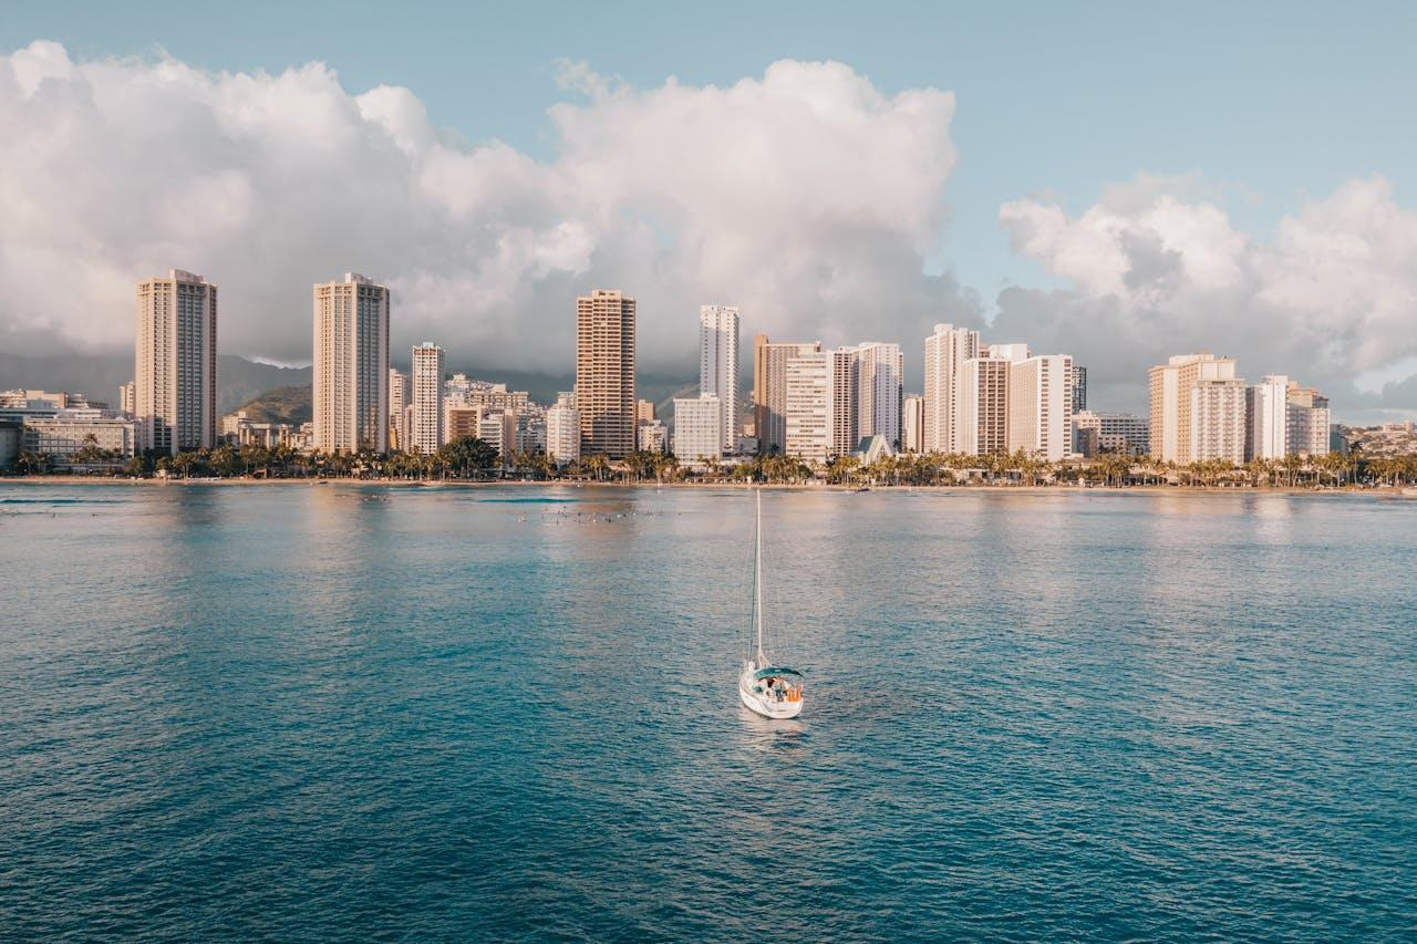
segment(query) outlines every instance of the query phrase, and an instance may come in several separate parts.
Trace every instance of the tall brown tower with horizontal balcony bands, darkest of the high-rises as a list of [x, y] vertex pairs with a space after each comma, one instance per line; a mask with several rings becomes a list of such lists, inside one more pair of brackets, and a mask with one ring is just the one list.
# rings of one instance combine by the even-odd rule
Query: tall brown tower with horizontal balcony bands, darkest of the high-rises
[[622, 292], [575, 299], [575, 407], [582, 454], [635, 451], [635, 299]]

